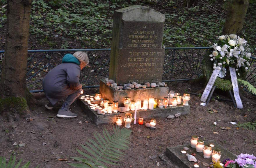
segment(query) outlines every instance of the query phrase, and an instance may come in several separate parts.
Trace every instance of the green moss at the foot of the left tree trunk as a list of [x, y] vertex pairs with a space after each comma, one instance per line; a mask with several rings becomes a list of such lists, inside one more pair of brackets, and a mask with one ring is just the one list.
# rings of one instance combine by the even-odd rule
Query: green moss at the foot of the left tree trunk
[[28, 108], [27, 101], [23, 97], [6, 97], [0, 99], [0, 113], [4, 110], [22, 113]]

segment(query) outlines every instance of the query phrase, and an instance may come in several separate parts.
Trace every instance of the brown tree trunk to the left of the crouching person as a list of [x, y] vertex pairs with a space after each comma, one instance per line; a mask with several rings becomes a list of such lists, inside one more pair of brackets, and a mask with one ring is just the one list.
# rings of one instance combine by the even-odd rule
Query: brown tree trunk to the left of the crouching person
[[[7, 1], [7, 32], [0, 93], [1, 108], [3, 105], [9, 106], [11, 102], [19, 102], [18, 100], [26, 103], [26, 67], [31, 3], [32, 0]], [[15, 98], [19, 99], [15, 101]], [[9, 103], [6, 103], [5, 99]], [[27, 104], [21, 106], [27, 107]]]

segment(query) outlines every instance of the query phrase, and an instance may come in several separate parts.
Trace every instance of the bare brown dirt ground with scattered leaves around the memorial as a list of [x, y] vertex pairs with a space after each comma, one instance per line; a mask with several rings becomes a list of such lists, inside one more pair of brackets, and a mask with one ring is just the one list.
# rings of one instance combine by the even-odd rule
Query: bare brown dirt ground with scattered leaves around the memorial
[[[179, 85], [173, 85], [170, 89], [182, 93], [182, 87], [177, 86]], [[192, 92], [198, 90], [198, 88], [195, 90], [195, 84], [189, 84], [189, 87], [192, 88]], [[95, 89], [86, 92], [95, 93]], [[151, 160], [149, 156], [163, 154], [166, 147], [189, 143], [192, 135], [198, 135], [203, 140], [215, 140], [234, 154], [256, 155], [255, 131], [237, 129], [236, 126], [228, 124], [229, 121], [243, 123], [256, 120], [256, 97], [247, 92], [241, 95], [243, 95], [243, 109], [234, 109], [231, 102], [217, 100], [210, 101], [209, 105], [204, 107], [200, 106], [198, 96], [191, 96], [189, 115], [170, 120], [165, 117], [156, 118], [157, 129], [155, 130], [150, 130], [145, 125], [132, 124], [130, 148], [124, 151], [127, 157], [123, 158], [119, 162], [120, 166], [116, 167], [157, 167], [157, 162], [160, 164], [159, 167], [170, 167], [159, 157]], [[46, 98], [41, 101], [44, 104], [47, 103]], [[114, 123], [94, 125], [76, 102], [71, 108], [73, 112], [79, 114], [77, 118], [56, 118], [58, 109], [50, 111], [44, 106], [31, 109], [31, 116], [34, 118], [32, 121], [21, 118], [10, 123], [0, 118], [0, 156], [9, 158], [11, 154], [16, 154], [17, 159], [23, 159], [22, 163], [30, 160], [30, 167], [37, 165], [47, 168], [71, 167], [68, 163], [76, 161], [70, 156], [81, 157], [76, 151], [76, 148], [83, 150], [79, 144], [85, 144], [84, 142], [89, 138], [94, 139], [93, 133], [96, 131], [102, 134], [103, 128], [113, 133], [112, 128], [115, 126]], [[79, 121], [82, 124], [79, 124]], [[144, 124], [146, 122], [149, 120], [144, 120]], [[216, 126], [214, 122], [217, 123]], [[223, 130], [220, 127], [231, 129]], [[139, 129], [141, 132], [138, 132]], [[218, 134], [213, 134], [213, 132], [218, 132]], [[150, 138], [147, 138], [148, 136]], [[13, 145], [15, 142], [26, 145], [18, 147], [18, 145]], [[46, 145], [42, 145], [43, 143]], [[68, 161], [59, 161], [58, 158]]]

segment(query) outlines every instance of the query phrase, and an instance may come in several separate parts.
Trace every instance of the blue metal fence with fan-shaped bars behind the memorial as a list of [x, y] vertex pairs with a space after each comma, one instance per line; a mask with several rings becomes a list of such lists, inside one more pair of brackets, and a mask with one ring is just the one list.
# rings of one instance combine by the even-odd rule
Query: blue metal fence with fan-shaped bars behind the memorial
[[[202, 58], [209, 47], [165, 48], [163, 81], [186, 81], [202, 74]], [[61, 63], [62, 57], [70, 52], [85, 51], [90, 64], [81, 70], [80, 82], [83, 88], [99, 87], [99, 81], [109, 76], [110, 48], [68, 49], [68, 50], [28, 50], [26, 83], [31, 92], [43, 92], [44, 76]], [[4, 51], [0, 51], [3, 56]], [[256, 59], [251, 57], [251, 69], [246, 80], [256, 83]], [[1, 67], [0, 67], [1, 72]]]

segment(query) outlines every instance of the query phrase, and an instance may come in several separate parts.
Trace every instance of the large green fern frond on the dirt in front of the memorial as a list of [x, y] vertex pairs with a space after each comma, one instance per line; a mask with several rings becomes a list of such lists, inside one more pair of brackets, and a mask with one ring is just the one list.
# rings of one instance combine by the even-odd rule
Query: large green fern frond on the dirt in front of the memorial
[[94, 133], [96, 140], [89, 139], [85, 145], [81, 147], [86, 151], [77, 149], [78, 153], [84, 158], [71, 157], [81, 163], [69, 165], [73, 167], [107, 167], [107, 165], [118, 165], [116, 162], [124, 156], [124, 153], [120, 149], [128, 149], [127, 144], [130, 143], [129, 137], [131, 135], [131, 130], [119, 127], [113, 127], [114, 134], [111, 136], [109, 132], [105, 129], [103, 130], [103, 136], [99, 133]]

